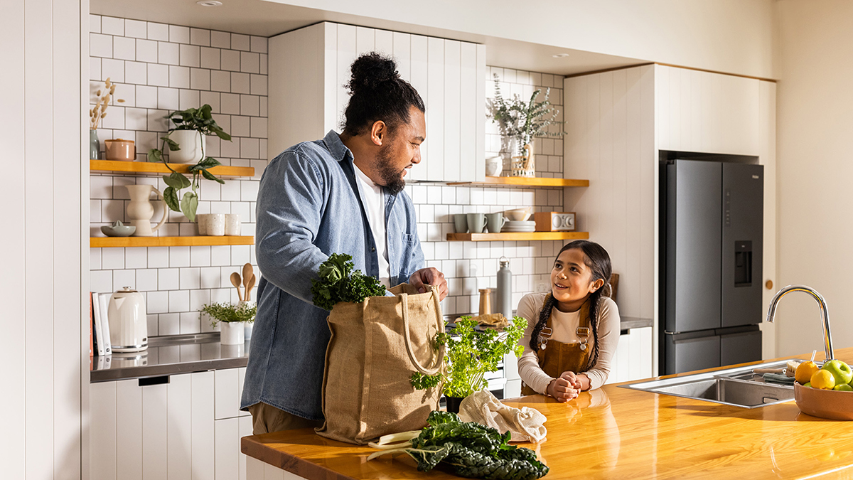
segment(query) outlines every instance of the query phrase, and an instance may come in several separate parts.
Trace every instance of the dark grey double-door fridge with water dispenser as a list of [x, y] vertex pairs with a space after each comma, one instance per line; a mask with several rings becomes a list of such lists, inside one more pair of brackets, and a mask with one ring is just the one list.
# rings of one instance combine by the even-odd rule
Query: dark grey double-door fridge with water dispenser
[[763, 166], [661, 163], [662, 375], [761, 360]]

